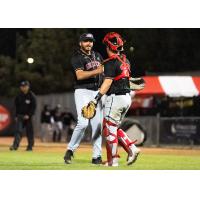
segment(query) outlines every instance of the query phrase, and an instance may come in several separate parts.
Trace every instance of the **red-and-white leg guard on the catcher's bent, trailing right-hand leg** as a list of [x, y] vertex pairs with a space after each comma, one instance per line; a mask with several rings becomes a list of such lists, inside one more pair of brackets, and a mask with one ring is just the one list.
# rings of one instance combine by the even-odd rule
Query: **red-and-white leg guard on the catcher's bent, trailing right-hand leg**
[[122, 129], [117, 130], [117, 138], [119, 144], [124, 148], [128, 155], [132, 156], [133, 152], [130, 147], [135, 141], [130, 140], [128, 135]]

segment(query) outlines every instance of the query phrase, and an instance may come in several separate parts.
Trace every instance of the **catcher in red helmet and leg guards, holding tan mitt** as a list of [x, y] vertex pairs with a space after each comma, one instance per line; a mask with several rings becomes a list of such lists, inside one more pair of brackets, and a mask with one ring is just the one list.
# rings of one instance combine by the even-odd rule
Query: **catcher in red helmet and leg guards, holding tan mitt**
[[118, 33], [108, 33], [103, 43], [106, 45], [108, 59], [104, 63], [105, 79], [95, 99], [82, 109], [83, 116], [92, 118], [95, 115], [95, 106], [104, 94], [103, 135], [106, 139], [107, 166], [118, 166], [118, 143], [128, 153], [127, 165], [133, 164], [140, 149], [134, 145], [127, 134], [119, 129], [130, 105], [132, 90], [140, 90], [145, 86], [142, 78], [131, 78], [130, 62], [123, 51], [123, 39]]

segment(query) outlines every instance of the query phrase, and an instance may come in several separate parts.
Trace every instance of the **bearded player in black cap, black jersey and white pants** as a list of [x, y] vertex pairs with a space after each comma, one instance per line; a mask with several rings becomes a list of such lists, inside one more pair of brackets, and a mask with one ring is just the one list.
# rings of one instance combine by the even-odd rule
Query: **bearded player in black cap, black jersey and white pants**
[[82, 34], [79, 39], [80, 49], [76, 51], [71, 59], [76, 77], [74, 96], [78, 120], [64, 156], [66, 164], [71, 163], [73, 154], [80, 145], [89, 122], [92, 127], [92, 163], [100, 164], [102, 162], [102, 102], [99, 101], [96, 107], [96, 115], [93, 119], [89, 120], [82, 116], [82, 108], [94, 99], [102, 83], [103, 66], [101, 63], [103, 59], [99, 53], [92, 50], [94, 41], [95, 39], [91, 33]]

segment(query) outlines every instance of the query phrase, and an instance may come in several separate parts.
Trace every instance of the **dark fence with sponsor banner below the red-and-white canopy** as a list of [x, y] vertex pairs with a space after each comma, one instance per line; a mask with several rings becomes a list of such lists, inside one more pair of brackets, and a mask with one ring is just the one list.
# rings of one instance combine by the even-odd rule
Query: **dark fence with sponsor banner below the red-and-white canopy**
[[131, 117], [146, 130], [146, 146], [200, 145], [200, 117]]

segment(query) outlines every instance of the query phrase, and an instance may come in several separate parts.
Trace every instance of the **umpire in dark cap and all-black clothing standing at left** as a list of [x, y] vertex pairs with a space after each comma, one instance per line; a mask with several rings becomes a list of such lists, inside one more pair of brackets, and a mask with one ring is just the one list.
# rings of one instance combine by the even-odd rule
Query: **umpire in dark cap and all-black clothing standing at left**
[[26, 129], [26, 136], [28, 139], [28, 146], [26, 151], [32, 151], [34, 145], [34, 133], [32, 125], [32, 116], [36, 110], [36, 97], [30, 90], [30, 83], [22, 81], [20, 83], [20, 93], [15, 98], [16, 108], [16, 130], [14, 135], [13, 145], [10, 147], [11, 151], [18, 149], [23, 129]]

